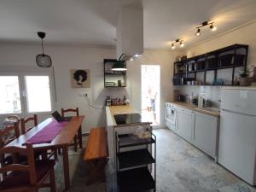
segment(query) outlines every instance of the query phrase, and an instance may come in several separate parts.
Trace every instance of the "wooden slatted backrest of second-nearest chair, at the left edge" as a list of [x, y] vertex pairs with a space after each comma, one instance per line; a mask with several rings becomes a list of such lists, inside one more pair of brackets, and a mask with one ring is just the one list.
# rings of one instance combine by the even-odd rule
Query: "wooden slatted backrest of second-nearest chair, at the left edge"
[[0, 148], [20, 137], [19, 123], [9, 125], [0, 130]]

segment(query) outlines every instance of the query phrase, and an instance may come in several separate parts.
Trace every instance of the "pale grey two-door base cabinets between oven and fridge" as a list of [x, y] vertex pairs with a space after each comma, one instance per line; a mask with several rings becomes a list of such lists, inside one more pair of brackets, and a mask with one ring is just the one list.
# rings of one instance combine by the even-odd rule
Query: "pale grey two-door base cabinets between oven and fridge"
[[166, 126], [214, 160], [218, 159], [219, 118], [188, 108], [177, 107], [177, 124]]

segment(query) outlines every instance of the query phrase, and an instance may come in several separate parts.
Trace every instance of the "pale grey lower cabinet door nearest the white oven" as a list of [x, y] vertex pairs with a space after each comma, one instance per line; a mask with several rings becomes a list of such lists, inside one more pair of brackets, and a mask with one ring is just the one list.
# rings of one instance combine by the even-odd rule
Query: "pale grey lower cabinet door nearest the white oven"
[[191, 141], [192, 139], [192, 111], [190, 113], [177, 113], [177, 134], [184, 139]]

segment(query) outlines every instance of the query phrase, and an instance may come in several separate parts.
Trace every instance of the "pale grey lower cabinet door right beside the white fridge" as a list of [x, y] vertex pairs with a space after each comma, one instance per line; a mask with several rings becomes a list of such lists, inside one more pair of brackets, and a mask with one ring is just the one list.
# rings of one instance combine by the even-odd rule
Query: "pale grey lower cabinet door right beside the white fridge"
[[217, 117], [195, 112], [193, 143], [213, 158], [216, 158], [217, 132]]

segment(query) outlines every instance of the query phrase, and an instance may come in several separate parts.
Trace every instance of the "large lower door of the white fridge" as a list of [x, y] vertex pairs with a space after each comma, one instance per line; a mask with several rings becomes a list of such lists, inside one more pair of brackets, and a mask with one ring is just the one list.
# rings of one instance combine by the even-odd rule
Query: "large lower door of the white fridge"
[[256, 116], [221, 111], [218, 162], [255, 184]]

